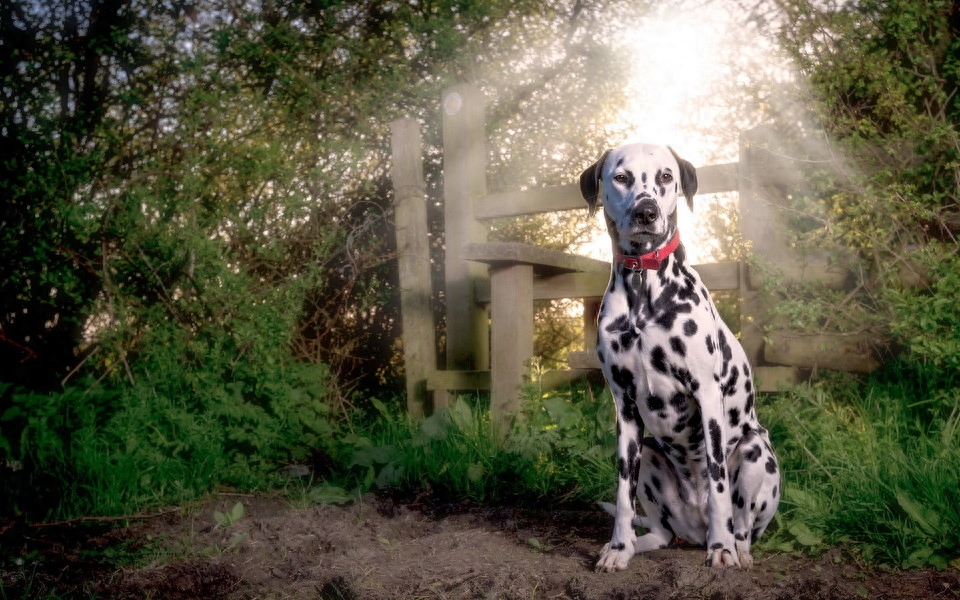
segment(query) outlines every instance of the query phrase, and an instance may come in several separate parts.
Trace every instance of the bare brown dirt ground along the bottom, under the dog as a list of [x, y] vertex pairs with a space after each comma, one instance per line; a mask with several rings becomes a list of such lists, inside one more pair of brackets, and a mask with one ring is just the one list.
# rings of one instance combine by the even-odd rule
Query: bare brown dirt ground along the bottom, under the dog
[[[704, 567], [697, 548], [669, 549], [634, 558], [623, 573], [594, 573], [610, 525], [600, 510], [549, 506], [366, 496], [303, 507], [220, 495], [119, 529], [8, 526], [0, 598], [960, 598], [957, 571], [867, 569], [840, 550], [757, 556], [744, 571]], [[11, 561], [17, 544], [22, 558]]]

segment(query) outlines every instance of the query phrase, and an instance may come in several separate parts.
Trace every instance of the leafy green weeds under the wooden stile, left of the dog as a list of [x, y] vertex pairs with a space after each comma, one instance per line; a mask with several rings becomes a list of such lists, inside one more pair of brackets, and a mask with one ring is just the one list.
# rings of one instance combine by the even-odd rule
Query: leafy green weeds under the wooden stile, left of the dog
[[[429, 490], [451, 502], [593, 503], [612, 494], [615, 444], [613, 403], [586, 384], [527, 401], [505, 441], [489, 412], [458, 397], [421, 421], [376, 402], [378, 417], [363, 434], [340, 440], [347, 476], [327, 482], [317, 497], [340, 501], [344, 487]], [[341, 477], [344, 477], [341, 475]], [[308, 494], [308, 497], [314, 494]]]

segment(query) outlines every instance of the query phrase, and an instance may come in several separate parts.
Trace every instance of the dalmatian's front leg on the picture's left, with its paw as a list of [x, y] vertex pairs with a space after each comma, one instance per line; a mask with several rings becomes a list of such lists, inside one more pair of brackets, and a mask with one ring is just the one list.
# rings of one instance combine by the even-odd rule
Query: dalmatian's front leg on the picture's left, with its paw
[[[627, 399], [632, 402], [632, 399]], [[640, 467], [640, 438], [643, 435], [643, 423], [639, 418], [625, 418], [623, 400], [617, 399], [617, 506], [614, 514], [613, 536], [610, 543], [600, 550], [597, 571], [613, 572], [627, 568], [627, 563], [636, 553], [634, 544], [637, 532], [634, 530], [636, 510], [634, 499], [637, 496], [637, 480]], [[632, 407], [626, 407], [628, 414], [636, 414]]]

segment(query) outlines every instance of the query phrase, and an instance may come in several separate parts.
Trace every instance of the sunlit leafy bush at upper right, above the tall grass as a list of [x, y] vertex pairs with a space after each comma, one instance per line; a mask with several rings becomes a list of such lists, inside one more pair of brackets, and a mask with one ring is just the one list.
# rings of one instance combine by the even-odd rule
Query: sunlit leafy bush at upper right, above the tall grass
[[[799, 252], [852, 249], [852, 284], [774, 289], [788, 325], [871, 331], [901, 359], [944, 372], [960, 364], [953, 301], [960, 277], [960, 32], [946, 0], [822, 4], [778, 0], [770, 23], [803, 75], [809, 112], [772, 115], [781, 141], [817, 145], [830, 166], [789, 198]], [[758, 5], [757, 14], [761, 12]], [[812, 117], [812, 125], [809, 117]], [[797, 131], [796, 123], [807, 123]], [[788, 142], [784, 141], [789, 145]], [[816, 154], [816, 152], [815, 152]]]

